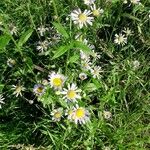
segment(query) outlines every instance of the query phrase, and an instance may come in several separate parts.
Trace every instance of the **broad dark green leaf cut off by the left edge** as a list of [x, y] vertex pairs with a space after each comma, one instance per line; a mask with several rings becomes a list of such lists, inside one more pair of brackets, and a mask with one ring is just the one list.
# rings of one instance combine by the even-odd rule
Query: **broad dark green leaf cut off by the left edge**
[[4, 49], [10, 40], [11, 37], [7, 34], [0, 36], [0, 49]]

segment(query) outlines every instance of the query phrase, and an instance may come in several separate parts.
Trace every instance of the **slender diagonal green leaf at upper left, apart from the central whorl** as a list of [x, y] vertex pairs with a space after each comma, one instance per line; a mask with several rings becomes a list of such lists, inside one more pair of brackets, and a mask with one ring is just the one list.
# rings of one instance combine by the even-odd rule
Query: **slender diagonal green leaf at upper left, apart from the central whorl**
[[30, 38], [30, 36], [32, 35], [33, 29], [29, 29], [26, 32], [24, 32], [19, 41], [18, 41], [18, 46], [21, 47], [24, 43], [27, 42], [27, 40]]

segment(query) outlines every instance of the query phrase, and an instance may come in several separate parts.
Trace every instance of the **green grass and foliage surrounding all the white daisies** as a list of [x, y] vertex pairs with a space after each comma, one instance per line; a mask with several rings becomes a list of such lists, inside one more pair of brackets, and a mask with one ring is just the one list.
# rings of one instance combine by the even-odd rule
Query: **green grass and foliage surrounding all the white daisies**
[[[97, 6], [104, 9], [103, 15], [95, 18], [92, 26], [78, 29], [66, 17], [77, 7], [89, 9], [83, 1], [0, 2], [0, 22], [3, 23], [0, 26], [0, 94], [5, 98], [0, 109], [1, 150], [26, 150], [31, 145], [34, 148], [30, 149], [39, 150], [101, 150], [106, 146], [112, 150], [149, 149], [150, 2], [141, 0], [141, 3], [129, 6], [129, 2], [123, 4], [121, 0], [97, 0]], [[10, 34], [11, 23], [17, 27], [17, 35]], [[37, 43], [51, 38], [52, 33], [40, 37], [37, 28], [41, 24], [55, 27], [61, 34], [60, 41], [44, 53], [36, 50]], [[124, 27], [129, 27], [133, 35], [124, 46], [114, 44], [115, 34]], [[91, 50], [75, 41], [77, 33], [82, 33], [83, 39], [94, 44], [101, 54], [101, 58], [93, 62], [102, 67], [100, 79], [94, 79], [88, 72], [88, 79], [79, 80], [79, 49], [88, 54]], [[16, 61], [13, 67], [7, 65], [8, 58]], [[133, 65], [135, 60], [140, 63], [137, 68]], [[66, 117], [60, 122], [52, 121], [53, 108], [66, 109], [68, 103], [49, 85], [40, 100], [34, 95], [33, 87], [48, 79], [53, 70], [60, 70], [68, 77], [67, 83], [76, 82], [86, 94], [79, 105], [88, 108], [90, 122], [76, 125]], [[13, 95], [12, 85], [18, 83], [26, 88], [22, 97]], [[29, 100], [33, 100], [33, 104]], [[104, 118], [105, 110], [112, 113], [110, 119]]]

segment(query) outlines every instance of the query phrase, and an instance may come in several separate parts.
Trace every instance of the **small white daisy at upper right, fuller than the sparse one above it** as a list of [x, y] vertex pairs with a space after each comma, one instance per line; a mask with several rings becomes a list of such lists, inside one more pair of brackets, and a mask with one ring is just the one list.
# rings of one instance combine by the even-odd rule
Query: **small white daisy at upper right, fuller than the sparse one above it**
[[127, 37], [125, 37], [124, 34], [115, 34], [115, 40], [114, 43], [118, 45], [125, 45], [127, 43]]

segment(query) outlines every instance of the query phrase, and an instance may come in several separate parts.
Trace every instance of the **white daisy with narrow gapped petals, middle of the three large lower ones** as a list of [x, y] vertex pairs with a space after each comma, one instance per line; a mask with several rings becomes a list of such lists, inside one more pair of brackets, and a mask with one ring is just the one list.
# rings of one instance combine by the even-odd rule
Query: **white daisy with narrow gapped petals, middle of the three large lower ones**
[[72, 85], [68, 84], [68, 89], [63, 89], [61, 94], [65, 95], [63, 99], [67, 102], [77, 102], [77, 99], [81, 99], [80, 96], [81, 89], [78, 89], [76, 84], [72, 83]]

